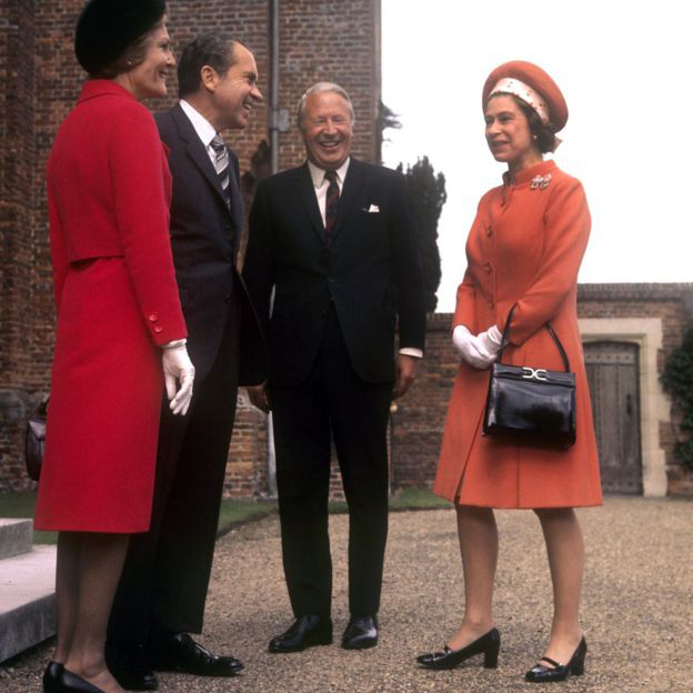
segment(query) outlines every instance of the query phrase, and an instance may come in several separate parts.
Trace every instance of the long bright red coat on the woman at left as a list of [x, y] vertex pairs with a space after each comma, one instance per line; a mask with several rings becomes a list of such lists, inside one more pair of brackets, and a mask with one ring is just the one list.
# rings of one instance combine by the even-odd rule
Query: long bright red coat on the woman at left
[[88, 81], [48, 163], [58, 327], [40, 530], [149, 529], [159, 345], [187, 334], [170, 194], [151, 113], [118, 84]]

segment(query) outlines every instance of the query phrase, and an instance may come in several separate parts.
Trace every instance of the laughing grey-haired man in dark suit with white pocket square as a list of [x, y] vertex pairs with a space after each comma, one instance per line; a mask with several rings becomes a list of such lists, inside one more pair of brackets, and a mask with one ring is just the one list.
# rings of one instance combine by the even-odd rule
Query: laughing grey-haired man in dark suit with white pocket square
[[331, 438], [350, 509], [351, 619], [342, 646], [378, 643], [390, 403], [406, 392], [423, 355], [423, 280], [406, 184], [392, 170], [350, 157], [353, 121], [341, 87], [309, 89], [299, 107], [308, 161], [264, 180], [250, 213], [243, 273], [268, 335], [270, 376], [249, 392], [273, 414], [282, 556], [295, 616], [270, 652], [332, 642]]

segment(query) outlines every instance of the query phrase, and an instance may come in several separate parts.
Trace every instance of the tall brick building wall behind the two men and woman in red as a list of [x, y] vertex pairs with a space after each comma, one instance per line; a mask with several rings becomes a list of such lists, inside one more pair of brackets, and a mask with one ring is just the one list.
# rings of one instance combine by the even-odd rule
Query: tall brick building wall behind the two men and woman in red
[[[31, 488], [23, 473], [27, 412], [48, 391], [54, 314], [48, 248], [44, 167], [56, 131], [84, 78], [72, 52], [82, 0], [0, 0], [0, 492]], [[219, 31], [254, 53], [269, 98], [269, 0], [169, 0], [177, 52], [191, 38]], [[380, 0], [281, 0], [280, 107], [291, 130], [280, 134], [280, 168], [303, 160], [295, 104], [319, 80], [338, 81], [356, 111], [354, 155], [376, 160], [380, 99]], [[148, 103], [160, 110], [169, 98]], [[225, 133], [240, 159], [244, 188], [268, 173], [267, 107], [248, 128]], [[250, 198], [250, 194], [249, 194]], [[249, 200], [248, 200], [249, 201]], [[265, 494], [264, 418], [241, 398], [225, 492]]]

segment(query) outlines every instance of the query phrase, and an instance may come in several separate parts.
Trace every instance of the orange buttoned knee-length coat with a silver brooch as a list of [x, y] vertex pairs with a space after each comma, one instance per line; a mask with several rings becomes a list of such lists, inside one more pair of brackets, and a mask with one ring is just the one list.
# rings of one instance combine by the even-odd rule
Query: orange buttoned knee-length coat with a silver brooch
[[[544, 177], [542, 184], [532, 183]], [[548, 184], [546, 178], [550, 177]], [[502, 331], [518, 303], [503, 363], [563, 370], [550, 321], [576, 381], [578, 440], [569, 450], [500, 442], [482, 435], [489, 370], [460, 363], [448, 409], [433, 490], [463, 505], [566, 508], [602, 502], [592, 406], [578, 329], [578, 270], [590, 234], [580, 181], [553, 161], [521, 171], [479, 203], [466, 242], [453, 328]]]

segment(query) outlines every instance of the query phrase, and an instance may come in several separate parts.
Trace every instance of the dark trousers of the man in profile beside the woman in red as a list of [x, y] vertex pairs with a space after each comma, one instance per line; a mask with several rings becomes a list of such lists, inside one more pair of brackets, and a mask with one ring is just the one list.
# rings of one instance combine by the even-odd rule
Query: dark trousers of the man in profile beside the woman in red
[[239, 320], [232, 308], [212, 370], [194, 382], [188, 414], [173, 416], [164, 396], [151, 525], [130, 540], [109, 622], [113, 643], [202, 630], [238, 364]]

